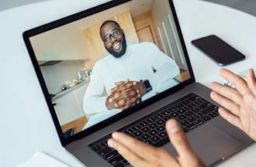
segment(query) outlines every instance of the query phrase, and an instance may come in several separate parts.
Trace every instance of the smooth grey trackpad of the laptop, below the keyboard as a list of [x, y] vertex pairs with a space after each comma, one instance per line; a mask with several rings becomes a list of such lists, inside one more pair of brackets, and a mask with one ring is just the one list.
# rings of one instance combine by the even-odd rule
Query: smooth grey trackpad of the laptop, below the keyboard
[[[189, 132], [187, 136], [192, 148], [206, 165], [213, 165], [220, 158], [231, 155], [241, 145], [235, 138], [224, 134], [210, 124], [202, 125], [195, 131]], [[164, 148], [176, 155], [170, 144], [164, 145]]]

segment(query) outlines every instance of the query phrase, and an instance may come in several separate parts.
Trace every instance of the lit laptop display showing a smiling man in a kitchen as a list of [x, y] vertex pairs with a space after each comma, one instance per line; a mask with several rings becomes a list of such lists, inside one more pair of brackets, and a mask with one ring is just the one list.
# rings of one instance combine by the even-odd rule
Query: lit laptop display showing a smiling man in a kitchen
[[133, 0], [30, 36], [66, 136], [189, 80], [168, 0]]

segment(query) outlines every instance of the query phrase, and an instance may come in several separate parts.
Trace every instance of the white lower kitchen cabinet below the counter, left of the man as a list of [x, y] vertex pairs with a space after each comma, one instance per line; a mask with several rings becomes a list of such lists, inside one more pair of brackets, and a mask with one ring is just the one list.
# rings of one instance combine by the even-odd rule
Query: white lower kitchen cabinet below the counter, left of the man
[[54, 108], [61, 125], [85, 116], [83, 97], [87, 87], [88, 83], [85, 83], [54, 101], [56, 104]]

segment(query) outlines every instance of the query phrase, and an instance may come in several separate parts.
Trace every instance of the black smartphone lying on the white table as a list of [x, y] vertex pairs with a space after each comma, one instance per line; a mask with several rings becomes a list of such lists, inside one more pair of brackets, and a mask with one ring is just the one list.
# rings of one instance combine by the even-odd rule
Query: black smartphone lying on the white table
[[220, 66], [226, 66], [245, 59], [244, 54], [215, 35], [195, 39], [192, 44]]

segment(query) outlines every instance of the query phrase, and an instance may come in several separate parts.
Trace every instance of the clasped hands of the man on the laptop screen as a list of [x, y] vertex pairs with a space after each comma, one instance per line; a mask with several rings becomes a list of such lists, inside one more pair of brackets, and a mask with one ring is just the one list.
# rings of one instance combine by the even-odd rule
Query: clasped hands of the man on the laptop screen
[[111, 90], [111, 94], [106, 99], [106, 107], [109, 110], [125, 110], [137, 104], [137, 101], [145, 93], [146, 91], [141, 82], [126, 80], [116, 83], [116, 87]]

